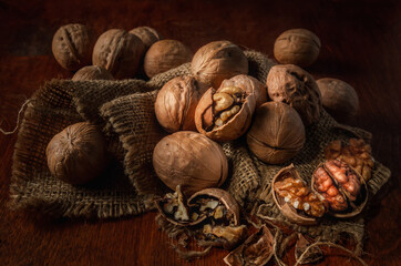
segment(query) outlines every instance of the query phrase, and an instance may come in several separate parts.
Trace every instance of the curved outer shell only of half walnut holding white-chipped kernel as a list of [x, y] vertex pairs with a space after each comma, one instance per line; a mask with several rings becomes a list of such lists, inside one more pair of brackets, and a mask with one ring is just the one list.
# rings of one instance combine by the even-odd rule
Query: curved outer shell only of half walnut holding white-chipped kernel
[[[282, 197], [280, 197], [275, 191], [275, 184], [278, 181], [284, 180], [286, 176], [291, 176], [296, 180], [302, 181], [299, 176], [298, 171], [294, 166], [294, 164], [281, 168], [271, 181], [271, 195], [275, 201], [277, 207], [280, 209], [281, 214], [286, 216], [289, 221], [299, 224], [299, 225], [315, 225], [318, 223], [318, 219], [313, 216], [306, 215], [301, 212], [298, 212], [295, 207], [292, 207], [289, 203], [286, 203]], [[315, 192], [313, 192], [315, 193]], [[319, 194], [317, 194], [319, 195]]]

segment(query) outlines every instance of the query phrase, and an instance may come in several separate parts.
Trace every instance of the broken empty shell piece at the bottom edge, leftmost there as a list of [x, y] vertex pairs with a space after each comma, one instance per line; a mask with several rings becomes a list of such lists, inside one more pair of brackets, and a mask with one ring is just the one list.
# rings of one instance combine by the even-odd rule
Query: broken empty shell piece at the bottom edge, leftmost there
[[274, 254], [274, 236], [264, 225], [239, 247], [230, 252], [224, 262], [229, 266], [263, 266]]

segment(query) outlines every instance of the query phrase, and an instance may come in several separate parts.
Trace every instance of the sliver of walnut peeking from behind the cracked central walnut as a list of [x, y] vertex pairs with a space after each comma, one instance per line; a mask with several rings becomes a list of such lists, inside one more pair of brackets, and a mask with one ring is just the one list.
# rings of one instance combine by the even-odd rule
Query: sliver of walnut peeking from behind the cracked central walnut
[[255, 94], [256, 108], [267, 102], [267, 88], [264, 83], [250, 75], [239, 74], [224, 80], [222, 86], [239, 86], [248, 94]]

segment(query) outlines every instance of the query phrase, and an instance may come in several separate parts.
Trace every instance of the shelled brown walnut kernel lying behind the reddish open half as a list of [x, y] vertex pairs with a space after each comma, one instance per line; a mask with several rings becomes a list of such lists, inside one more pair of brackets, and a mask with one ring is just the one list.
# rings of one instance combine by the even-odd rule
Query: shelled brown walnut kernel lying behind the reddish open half
[[349, 145], [340, 140], [332, 141], [325, 150], [326, 160], [338, 158], [352, 166], [364, 181], [369, 181], [372, 175], [374, 161], [372, 157], [372, 147], [362, 139], [350, 139]]

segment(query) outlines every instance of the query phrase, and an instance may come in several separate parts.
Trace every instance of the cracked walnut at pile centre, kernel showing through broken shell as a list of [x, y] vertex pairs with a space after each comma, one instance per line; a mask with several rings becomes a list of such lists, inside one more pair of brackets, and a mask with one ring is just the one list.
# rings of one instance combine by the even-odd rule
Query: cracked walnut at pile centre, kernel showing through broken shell
[[224, 84], [217, 91], [210, 88], [196, 106], [196, 129], [215, 141], [236, 140], [248, 130], [255, 106], [253, 90]]

